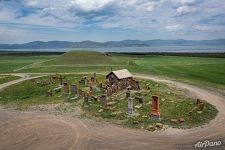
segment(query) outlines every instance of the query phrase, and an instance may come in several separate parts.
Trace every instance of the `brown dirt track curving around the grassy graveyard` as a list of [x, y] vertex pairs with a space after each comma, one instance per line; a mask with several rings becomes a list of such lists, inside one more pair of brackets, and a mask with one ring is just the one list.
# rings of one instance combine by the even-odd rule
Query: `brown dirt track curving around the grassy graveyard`
[[[44, 112], [21, 112], [0, 108], [0, 149], [194, 149], [198, 141], [220, 140], [225, 149], [225, 98], [196, 86], [155, 77], [136, 75], [175, 85], [216, 106], [219, 113], [203, 127], [147, 132], [117, 127], [77, 116], [55, 116]], [[26, 78], [29, 79], [29, 78]], [[23, 80], [26, 80], [23, 78]], [[0, 91], [22, 79], [0, 85]]]

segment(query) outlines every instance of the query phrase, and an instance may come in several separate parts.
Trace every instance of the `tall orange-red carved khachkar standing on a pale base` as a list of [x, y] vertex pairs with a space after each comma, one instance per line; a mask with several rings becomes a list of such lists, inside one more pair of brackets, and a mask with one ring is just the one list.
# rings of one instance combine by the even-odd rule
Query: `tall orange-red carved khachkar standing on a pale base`
[[152, 119], [160, 119], [160, 112], [159, 112], [159, 97], [154, 95], [152, 96], [152, 111], [150, 114]]

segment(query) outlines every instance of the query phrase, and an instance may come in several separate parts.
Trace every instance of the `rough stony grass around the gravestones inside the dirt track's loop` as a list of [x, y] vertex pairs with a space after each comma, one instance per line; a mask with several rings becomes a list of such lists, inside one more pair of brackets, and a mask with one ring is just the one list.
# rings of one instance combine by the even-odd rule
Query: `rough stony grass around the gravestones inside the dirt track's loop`
[[[77, 84], [78, 80], [82, 77], [87, 76], [90, 79], [91, 75], [65, 75], [63, 80], [69, 84]], [[105, 76], [97, 75], [99, 82], [105, 80]], [[63, 89], [56, 93], [53, 92], [53, 96], [47, 96], [49, 89], [54, 89], [59, 86], [59, 82], [51, 82], [50, 77], [42, 77], [38, 79], [28, 80], [14, 86], [6, 88], [0, 93], [0, 103], [4, 105], [13, 105], [19, 109], [27, 109], [33, 105], [41, 104], [56, 104], [56, 103], [71, 103], [80, 106], [87, 112], [87, 114], [107, 119], [116, 123], [117, 121], [123, 121], [124, 126], [132, 128], [147, 128], [149, 125], [155, 124], [156, 122], [161, 122], [164, 125], [169, 125], [176, 128], [191, 128], [195, 126], [202, 125], [212, 120], [216, 114], [217, 110], [214, 106], [205, 103], [205, 108], [201, 113], [197, 113], [198, 109], [192, 111], [190, 115], [188, 112], [196, 107], [196, 100], [187, 98], [183, 95], [182, 91], [174, 90], [162, 83], [156, 83], [153, 81], [140, 80], [140, 85], [142, 88], [141, 97], [143, 97], [143, 104], [141, 108], [136, 108], [135, 106], [140, 105], [139, 101], [134, 99], [135, 112], [139, 113], [136, 117], [127, 117], [127, 100], [125, 90], [120, 93], [116, 93], [109, 97], [109, 101], [116, 102], [112, 109], [103, 109], [100, 106], [99, 101], [89, 99], [89, 102], [84, 103], [83, 98], [78, 98], [76, 94], [63, 94]], [[145, 89], [145, 86], [149, 86], [149, 89]], [[89, 87], [80, 86], [83, 91], [88, 91]], [[102, 94], [98, 85], [95, 87], [95, 96]], [[132, 91], [132, 97], [135, 97], [136, 91]], [[161, 111], [161, 121], [150, 120], [149, 113], [151, 110], [151, 96], [159, 95], [160, 97], [160, 111]], [[99, 110], [102, 109], [102, 112]], [[184, 123], [171, 123], [171, 119], [184, 118]], [[134, 124], [134, 122], [136, 122]]]

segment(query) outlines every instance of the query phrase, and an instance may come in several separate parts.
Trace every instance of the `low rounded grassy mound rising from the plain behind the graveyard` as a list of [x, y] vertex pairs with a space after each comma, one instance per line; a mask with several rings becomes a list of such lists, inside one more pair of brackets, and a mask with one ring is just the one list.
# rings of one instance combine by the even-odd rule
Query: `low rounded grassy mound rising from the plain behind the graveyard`
[[125, 60], [92, 51], [70, 51], [56, 59], [45, 62], [48, 65], [123, 65]]

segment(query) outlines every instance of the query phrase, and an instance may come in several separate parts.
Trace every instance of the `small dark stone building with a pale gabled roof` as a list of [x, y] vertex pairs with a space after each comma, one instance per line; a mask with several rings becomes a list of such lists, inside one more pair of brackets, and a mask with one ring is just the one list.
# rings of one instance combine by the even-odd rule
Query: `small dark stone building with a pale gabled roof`
[[116, 70], [110, 72], [106, 79], [109, 81], [109, 85], [117, 84], [118, 82], [128, 82], [132, 79], [132, 74], [127, 69]]

